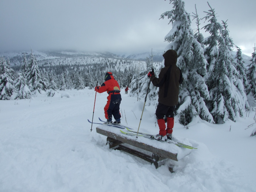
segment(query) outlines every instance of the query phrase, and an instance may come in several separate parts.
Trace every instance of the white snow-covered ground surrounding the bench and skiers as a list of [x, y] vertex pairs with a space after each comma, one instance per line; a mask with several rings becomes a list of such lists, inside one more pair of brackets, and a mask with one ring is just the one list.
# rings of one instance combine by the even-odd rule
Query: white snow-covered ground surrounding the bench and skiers
[[[250, 137], [255, 126], [245, 129], [254, 123], [254, 112], [219, 125], [195, 117], [188, 129], [175, 117], [173, 137], [198, 149], [156, 169], [109, 149], [106, 136], [96, 133], [98, 125], [88, 123], [94, 90], [58, 91], [54, 97], [41, 93], [32, 99], [0, 100], [1, 192], [256, 191], [256, 136]], [[144, 101], [121, 93], [121, 122], [137, 130]], [[98, 117], [104, 120], [106, 97], [107, 93], [96, 95], [93, 122], [99, 122]], [[155, 106], [145, 106], [140, 132], [158, 133], [154, 113]]]

